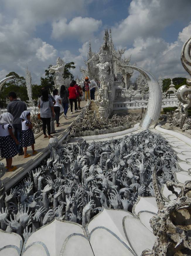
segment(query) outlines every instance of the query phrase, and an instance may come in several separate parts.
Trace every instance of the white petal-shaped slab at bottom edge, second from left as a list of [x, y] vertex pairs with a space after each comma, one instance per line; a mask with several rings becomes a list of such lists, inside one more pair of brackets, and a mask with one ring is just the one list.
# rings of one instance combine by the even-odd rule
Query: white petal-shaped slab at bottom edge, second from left
[[[69, 237], [74, 233], [76, 234], [75, 237]], [[28, 238], [24, 245], [26, 251], [23, 255], [28, 256], [30, 255], [29, 253], [32, 255], [32, 252], [36, 252], [37, 255], [41, 255], [42, 253], [43, 255], [46, 251], [48, 251], [50, 256], [66, 255], [65, 250], [71, 252], [68, 246], [65, 248], [65, 245], [67, 245], [68, 242], [71, 244], [71, 238], [72, 241], [76, 243], [76, 246], [72, 248], [74, 254], [71, 254], [70, 256], [76, 255], [79, 254], [78, 245], [81, 246], [83, 244], [84, 247], [90, 246], [89, 241], [85, 236], [85, 230], [83, 230], [81, 225], [74, 222], [59, 221], [55, 219], [52, 223], [43, 226]], [[61, 252], [64, 254], [60, 254]]]

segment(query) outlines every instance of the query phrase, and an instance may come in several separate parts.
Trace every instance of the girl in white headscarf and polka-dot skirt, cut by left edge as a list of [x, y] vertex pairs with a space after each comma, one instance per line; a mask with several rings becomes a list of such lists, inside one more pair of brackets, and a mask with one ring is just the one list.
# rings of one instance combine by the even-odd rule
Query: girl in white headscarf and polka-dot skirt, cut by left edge
[[13, 157], [17, 155], [15, 143], [19, 144], [14, 135], [13, 116], [10, 113], [3, 113], [0, 116], [0, 152], [1, 157], [6, 158], [8, 172], [17, 169], [16, 166], [12, 166]]

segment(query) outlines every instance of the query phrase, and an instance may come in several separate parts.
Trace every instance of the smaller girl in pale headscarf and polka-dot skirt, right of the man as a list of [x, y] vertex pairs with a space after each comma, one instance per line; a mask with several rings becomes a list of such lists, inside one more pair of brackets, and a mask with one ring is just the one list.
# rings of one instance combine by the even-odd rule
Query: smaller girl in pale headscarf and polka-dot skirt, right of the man
[[24, 158], [27, 158], [31, 156], [31, 154], [27, 153], [27, 147], [32, 147], [33, 155], [37, 153], [34, 145], [33, 125], [30, 122], [30, 112], [28, 110], [23, 111], [20, 118], [22, 119], [21, 147], [24, 148]]

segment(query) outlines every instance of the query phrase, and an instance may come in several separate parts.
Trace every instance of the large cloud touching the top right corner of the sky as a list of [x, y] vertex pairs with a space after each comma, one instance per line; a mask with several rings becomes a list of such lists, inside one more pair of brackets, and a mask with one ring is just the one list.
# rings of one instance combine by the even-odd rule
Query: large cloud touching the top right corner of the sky
[[126, 46], [135, 38], [158, 36], [176, 20], [189, 19], [190, 0], [132, 0], [129, 15], [112, 27], [113, 41]]

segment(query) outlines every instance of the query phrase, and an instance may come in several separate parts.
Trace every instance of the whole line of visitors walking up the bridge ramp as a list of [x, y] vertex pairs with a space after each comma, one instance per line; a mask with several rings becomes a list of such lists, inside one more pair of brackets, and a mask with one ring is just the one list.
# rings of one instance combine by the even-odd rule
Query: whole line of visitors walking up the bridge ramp
[[[42, 88], [42, 96], [39, 98], [39, 118], [42, 120], [42, 130], [44, 138], [51, 138], [51, 133], [54, 129], [54, 115], [56, 119], [56, 126], [59, 127], [59, 117], [61, 107], [64, 109], [64, 118], [67, 119], [68, 104], [70, 102], [71, 114], [77, 112], [80, 107], [81, 97], [83, 91], [85, 92], [85, 99], [95, 99], [95, 87], [90, 89], [88, 77], [85, 77], [83, 88], [78, 85], [76, 81], [72, 80], [68, 89], [65, 85], [60, 88], [60, 95], [58, 90], [54, 89], [53, 96], [48, 94], [46, 88]], [[91, 95], [91, 96], [90, 96]], [[27, 148], [32, 148], [32, 154], [37, 154], [35, 150], [35, 138], [33, 134], [33, 124], [30, 121], [30, 112], [27, 110], [25, 102], [17, 99], [15, 92], [10, 92], [9, 103], [7, 105], [7, 112], [0, 116], [0, 153], [1, 157], [6, 158], [6, 168], [8, 172], [14, 171], [17, 167], [12, 166], [13, 157], [23, 155], [24, 158], [30, 157], [27, 153]], [[55, 114], [54, 114], [55, 113]], [[46, 134], [46, 129], [48, 136]], [[24, 150], [23, 150], [24, 149]]]

